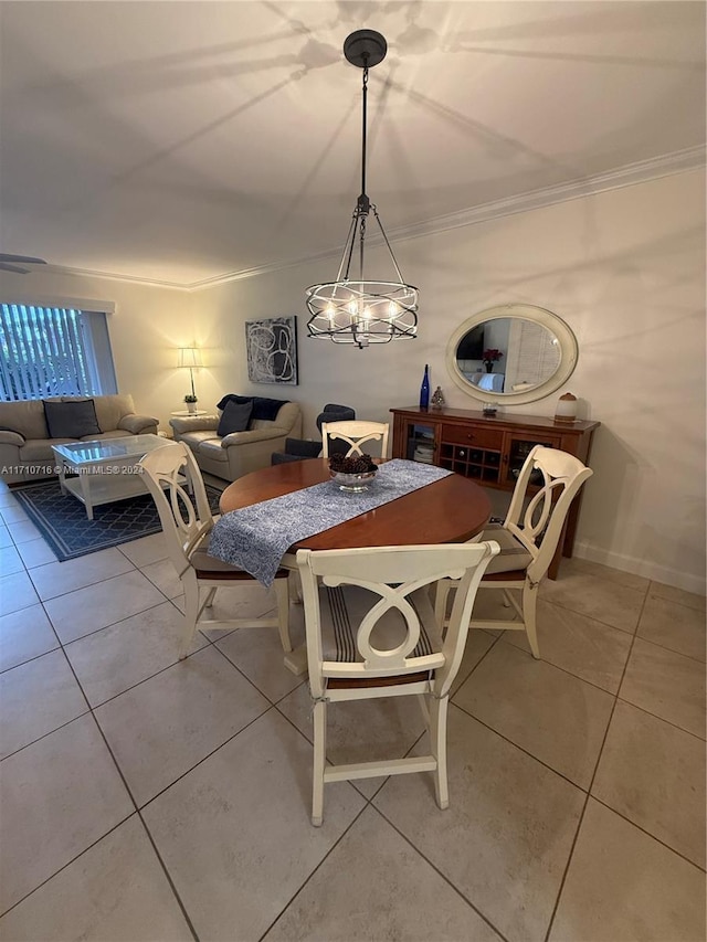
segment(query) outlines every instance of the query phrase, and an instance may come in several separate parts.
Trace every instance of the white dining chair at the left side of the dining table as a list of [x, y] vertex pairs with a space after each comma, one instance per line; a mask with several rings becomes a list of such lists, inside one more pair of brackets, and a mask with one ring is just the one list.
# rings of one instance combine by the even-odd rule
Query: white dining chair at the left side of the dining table
[[[145, 455], [139, 466], [145, 485], [157, 506], [162, 532], [172, 565], [184, 589], [186, 625], [179, 653], [187, 656], [197, 628], [275, 627], [285, 652], [292, 650], [289, 641], [288, 571], [279, 569], [274, 592], [277, 614], [267, 617], [202, 618], [204, 608], [213, 606], [217, 590], [253, 582], [253, 576], [242, 569], [209, 555], [209, 536], [213, 529], [213, 515], [199, 466], [187, 445], [166, 443]], [[190, 488], [193, 495], [189, 494]]]

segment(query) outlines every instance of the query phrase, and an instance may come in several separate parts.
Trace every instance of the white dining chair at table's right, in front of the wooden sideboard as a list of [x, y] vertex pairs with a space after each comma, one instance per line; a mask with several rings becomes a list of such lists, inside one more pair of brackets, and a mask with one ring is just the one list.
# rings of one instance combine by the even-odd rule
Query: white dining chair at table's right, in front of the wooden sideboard
[[[540, 657], [538, 589], [563, 533], [570, 505], [592, 474], [591, 468], [567, 452], [544, 445], [531, 449], [518, 474], [506, 519], [486, 527], [476, 538], [496, 540], [500, 546], [500, 553], [486, 570], [479, 589], [500, 590], [505, 604], [514, 608], [514, 618], [472, 616], [469, 628], [525, 631], [532, 656]], [[449, 594], [456, 585], [449, 580], [437, 585], [435, 616], [441, 628], [446, 624]]]

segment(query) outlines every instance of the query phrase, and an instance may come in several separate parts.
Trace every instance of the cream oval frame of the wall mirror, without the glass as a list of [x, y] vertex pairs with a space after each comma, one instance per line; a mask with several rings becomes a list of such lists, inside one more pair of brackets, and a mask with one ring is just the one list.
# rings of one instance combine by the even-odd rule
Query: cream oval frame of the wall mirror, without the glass
[[[466, 379], [456, 362], [456, 348], [465, 334], [473, 327], [477, 327], [487, 320], [499, 320], [505, 317], [519, 317], [524, 320], [531, 320], [534, 324], [539, 324], [553, 334], [560, 345], [560, 366], [557, 370], [544, 383], [532, 387], [532, 389], [523, 390], [523, 392], [489, 392], [479, 389]], [[504, 304], [481, 310], [478, 314], [467, 318], [463, 324], [460, 324], [447, 343], [446, 369], [461, 390], [467, 393], [467, 395], [481, 400], [481, 402], [495, 402], [498, 405], [523, 405], [526, 402], [537, 402], [539, 399], [545, 399], [566, 383], [574, 372], [578, 357], [579, 347], [577, 345], [577, 337], [574, 337], [570, 327], [556, 314], [531, 304]]]

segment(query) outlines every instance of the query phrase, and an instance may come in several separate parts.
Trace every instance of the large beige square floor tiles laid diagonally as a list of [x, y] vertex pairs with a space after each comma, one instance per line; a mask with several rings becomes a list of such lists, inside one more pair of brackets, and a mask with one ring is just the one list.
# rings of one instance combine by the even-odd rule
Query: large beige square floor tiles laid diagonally
[[[275, 632], [178, 663], [161, 536], [57, 563], [7, 489], [0, 514], [0, 939], [704, 940], [703, 597], [566, 561], [541, 661], [469, 637], [450, 809], [424, 774], [340, 783], [314, 828]], [[420, 737], [415, 703], [330, 712], [335, 760]]]

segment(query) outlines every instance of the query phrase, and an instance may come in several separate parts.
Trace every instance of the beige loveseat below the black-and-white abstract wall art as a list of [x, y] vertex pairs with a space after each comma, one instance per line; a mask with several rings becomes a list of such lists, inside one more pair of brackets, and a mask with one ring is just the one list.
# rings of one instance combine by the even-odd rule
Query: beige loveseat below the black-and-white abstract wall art
[[246, 431], [223, 437], [218, 434], [219, 416], [214, 415], [170, 419], [169, 424], [175, 441], [189, 445], [202, 472], [236, 480], [267, 467], [273, 452], [283, 451], [285, 438], [302, 435], [302, 410], [296, 402], [283, 402], [275, 419], [254, 419]]

